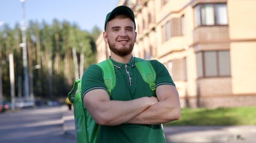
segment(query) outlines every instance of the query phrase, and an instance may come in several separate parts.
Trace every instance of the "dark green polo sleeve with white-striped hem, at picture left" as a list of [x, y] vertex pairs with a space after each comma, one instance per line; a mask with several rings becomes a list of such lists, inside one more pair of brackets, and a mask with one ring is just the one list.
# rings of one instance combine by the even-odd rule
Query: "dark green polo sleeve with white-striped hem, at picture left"
[[82, 100], [86, 93], [94, 89], [106, 90], [102, 70], [98, 65], [95, 64], [90, 65], [83, 73], [81, 81]]

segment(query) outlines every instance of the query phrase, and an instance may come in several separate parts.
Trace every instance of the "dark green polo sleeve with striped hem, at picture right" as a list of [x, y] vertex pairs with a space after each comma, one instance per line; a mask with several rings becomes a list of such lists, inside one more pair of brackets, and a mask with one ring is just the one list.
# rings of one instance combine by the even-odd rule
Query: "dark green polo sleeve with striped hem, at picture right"
[[168, 70], [162, 63], [160, 63], [157, 60], [150, 60], [150, 63], [152, 64], [153, 68], [155, 69], [156, 87], [158, 87], [159, 85], [172, 85], [175, 87], [173, 79], [171, 78]]

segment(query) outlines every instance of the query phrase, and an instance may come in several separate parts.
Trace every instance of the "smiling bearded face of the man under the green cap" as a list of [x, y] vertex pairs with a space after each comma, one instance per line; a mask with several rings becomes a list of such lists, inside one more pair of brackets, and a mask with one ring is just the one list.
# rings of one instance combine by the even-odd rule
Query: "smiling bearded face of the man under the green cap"
[[103, 33], [104, 41], [108, 42], [111, 52], [121, 57], [132, 53], [136, 36], [135, 25], [128, 17], [110, 20]]

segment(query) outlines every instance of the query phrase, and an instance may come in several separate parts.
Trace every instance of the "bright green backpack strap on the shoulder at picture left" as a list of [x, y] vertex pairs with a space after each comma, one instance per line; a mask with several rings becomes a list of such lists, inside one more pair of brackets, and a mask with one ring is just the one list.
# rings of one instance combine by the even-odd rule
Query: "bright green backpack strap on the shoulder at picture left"
[[114, 89], [116, 85], [116, 74], [115, 68], [110, 59], [102, 61], [98, 63], [99, 67], [101, 67], [103, 71], [103, 79], [107, 88], [108, 95], [111, 96], [111, 91]]

